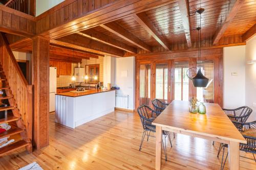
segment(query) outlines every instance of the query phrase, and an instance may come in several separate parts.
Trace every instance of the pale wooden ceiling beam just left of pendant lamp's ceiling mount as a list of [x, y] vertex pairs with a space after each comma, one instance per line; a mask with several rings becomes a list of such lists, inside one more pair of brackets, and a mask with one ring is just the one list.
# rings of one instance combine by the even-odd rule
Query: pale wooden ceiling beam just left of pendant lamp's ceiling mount
[[189, 11], [187, 0], [178, 1], [180, 14], [183, 22], [184, 32], [187, 40], [187, 47], [191, 47], [191, 35], [190, 35], [190, 22], [189, 22]]

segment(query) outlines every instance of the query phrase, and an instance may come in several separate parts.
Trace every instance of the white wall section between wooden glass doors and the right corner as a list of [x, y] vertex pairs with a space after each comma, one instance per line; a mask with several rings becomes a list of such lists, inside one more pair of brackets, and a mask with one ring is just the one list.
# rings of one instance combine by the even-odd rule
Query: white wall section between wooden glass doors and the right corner
[[[245, 45], [224, 47], [223, 107], [238, 108], [245, 105]], [[232, 76], [237, 73], [237, 76]]]

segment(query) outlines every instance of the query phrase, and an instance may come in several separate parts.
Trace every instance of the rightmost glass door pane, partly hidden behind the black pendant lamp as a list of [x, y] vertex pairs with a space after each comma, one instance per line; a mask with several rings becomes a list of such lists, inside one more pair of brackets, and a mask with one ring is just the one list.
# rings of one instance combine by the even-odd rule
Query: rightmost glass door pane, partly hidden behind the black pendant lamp
[[209, 82], [205, 88], [197, 88], [197, 99], [201, 102], [214, 103], [214, 61], [201, 61], [200, 64], [202, 73]]

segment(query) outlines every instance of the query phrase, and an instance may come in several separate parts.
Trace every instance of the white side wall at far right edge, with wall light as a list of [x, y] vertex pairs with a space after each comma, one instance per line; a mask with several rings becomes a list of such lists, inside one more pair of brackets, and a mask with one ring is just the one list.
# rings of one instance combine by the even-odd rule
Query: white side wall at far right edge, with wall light
[[[245, 56], [246, 63], [256, 60], [256, 36], [246, 42]], [[245, 104], [253, 110], [247, 122], [256, 120], [256, 63], [245, 65]]]

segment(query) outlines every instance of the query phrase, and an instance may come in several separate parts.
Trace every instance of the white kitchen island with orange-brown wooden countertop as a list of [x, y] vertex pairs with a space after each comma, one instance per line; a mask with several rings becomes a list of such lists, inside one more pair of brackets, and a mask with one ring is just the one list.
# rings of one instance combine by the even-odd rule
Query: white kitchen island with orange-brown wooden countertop
[[73, 129], [115, 110], [115, 90], [70, 91], [55, 98], [55, 122]]

